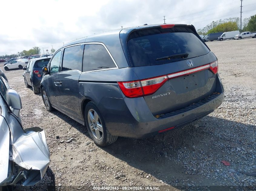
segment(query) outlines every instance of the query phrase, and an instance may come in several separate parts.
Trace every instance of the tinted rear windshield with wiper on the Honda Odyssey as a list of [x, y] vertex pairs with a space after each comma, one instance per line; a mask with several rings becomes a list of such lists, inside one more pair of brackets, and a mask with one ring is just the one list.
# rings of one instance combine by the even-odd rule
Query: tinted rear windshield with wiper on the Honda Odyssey
[[132, 66], [159, 65], [208, 54], [210, 50], [189, 27], [137, 30], [128, 37]]

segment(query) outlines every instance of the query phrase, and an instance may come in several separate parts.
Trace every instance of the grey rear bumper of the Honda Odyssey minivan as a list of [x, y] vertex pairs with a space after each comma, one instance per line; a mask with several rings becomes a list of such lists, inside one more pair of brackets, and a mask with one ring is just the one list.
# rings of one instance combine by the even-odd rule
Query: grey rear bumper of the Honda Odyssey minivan
[[153, 116], [148, 107], [144, 104], [144, 98], [103, 98], [99, 109], [108, 131], [112, 135], [144, 138], [157, 134], [163, 129], [170, 127], [181, 127], [198, 120], [221, 105], [224, 99], [224, 89], [218, 76], [217, 88], [213, 97], [209, 97], [181, 110]]

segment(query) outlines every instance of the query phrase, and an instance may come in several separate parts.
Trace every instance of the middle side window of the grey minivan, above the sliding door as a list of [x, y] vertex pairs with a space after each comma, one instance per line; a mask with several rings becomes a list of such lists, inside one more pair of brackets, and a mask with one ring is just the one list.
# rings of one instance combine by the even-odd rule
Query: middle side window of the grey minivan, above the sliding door
[[82, 61], [84, 44], [71, 46], [64, 49], [62, 71], [80, 70], [82, 71]]

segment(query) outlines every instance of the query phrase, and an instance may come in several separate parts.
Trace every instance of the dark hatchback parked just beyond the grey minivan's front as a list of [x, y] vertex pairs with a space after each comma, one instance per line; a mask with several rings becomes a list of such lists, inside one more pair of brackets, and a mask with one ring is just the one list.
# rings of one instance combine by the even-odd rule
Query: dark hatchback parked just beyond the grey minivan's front
[[51, 58], [52, 57], [42, 57], [30, 59], [28, 65], [23, 68], [23, 70], [25, 70], [23, 73], [25, 86], [27, 88], [32, 86], [34, 94], [40, 92], [40, 82], [43, 75], [42, 68], [48, 65]]

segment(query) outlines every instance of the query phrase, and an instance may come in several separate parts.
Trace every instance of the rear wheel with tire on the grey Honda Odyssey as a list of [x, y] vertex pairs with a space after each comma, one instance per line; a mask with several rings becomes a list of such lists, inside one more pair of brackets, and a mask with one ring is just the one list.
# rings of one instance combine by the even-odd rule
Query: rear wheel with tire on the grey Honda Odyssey
[[105, 147], [117, 140], [118, 136], [113, 136], [108, 132], [104, 119], [93, 102], [87, 103], [85, 107], [85, 122], [91, 139], [96, 145]]

